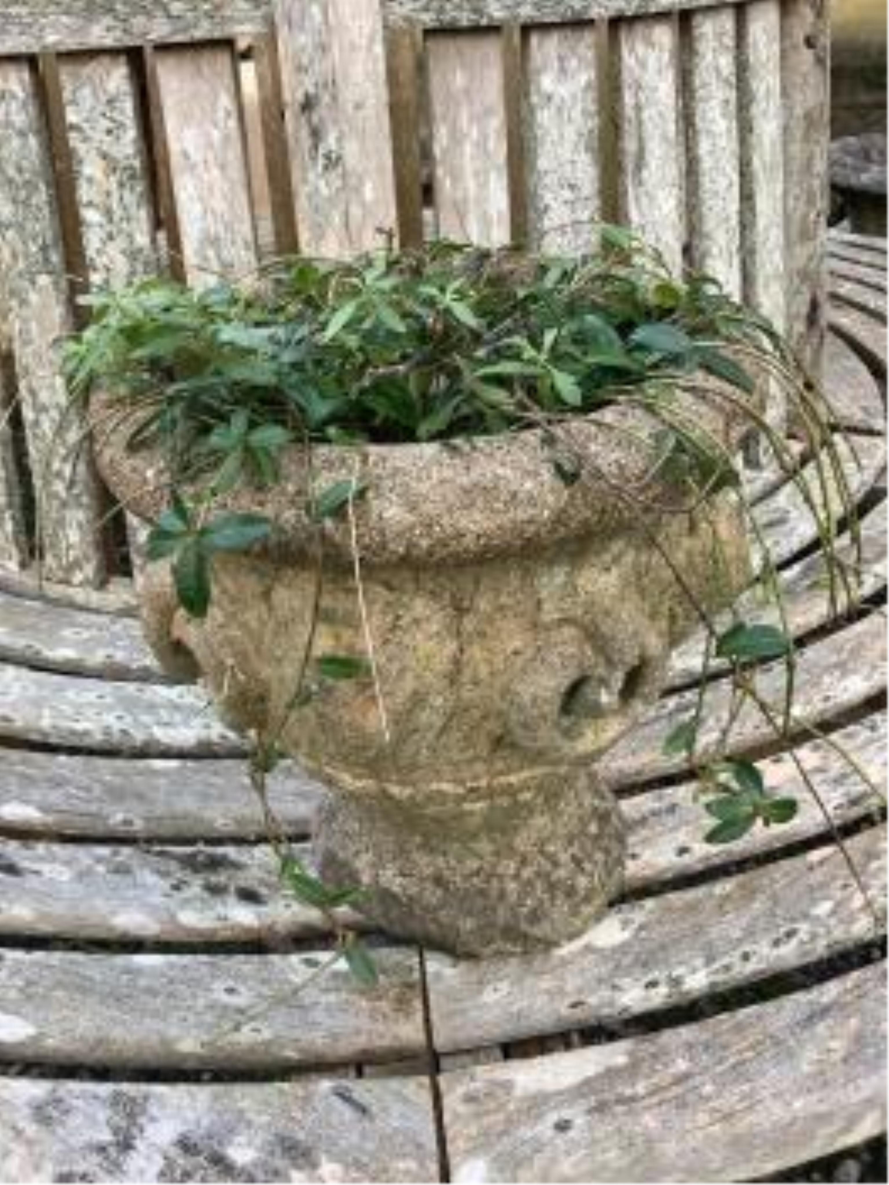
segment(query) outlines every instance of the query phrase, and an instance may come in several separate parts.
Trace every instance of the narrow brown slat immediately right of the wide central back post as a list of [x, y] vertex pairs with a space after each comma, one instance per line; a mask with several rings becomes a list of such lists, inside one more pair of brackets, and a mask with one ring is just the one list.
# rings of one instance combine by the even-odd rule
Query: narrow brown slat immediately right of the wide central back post
[[423, 242], [422, 52], [423, 39], [417, 28], [396, 28], [386, 34], [395, 194], [403, 246]]

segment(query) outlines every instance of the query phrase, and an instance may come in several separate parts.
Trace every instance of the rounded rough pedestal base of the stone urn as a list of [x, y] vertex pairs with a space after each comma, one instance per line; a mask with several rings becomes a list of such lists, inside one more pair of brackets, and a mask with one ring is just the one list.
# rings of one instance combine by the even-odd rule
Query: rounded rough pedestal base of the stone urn
[[363, 914], [390, 934], [461, 955], [577, 937], [620, 890], [620, 807], [588, 769], [468, 789], [454, 805], [337, 794], [315, 853], [333, 885], [360, 885]]

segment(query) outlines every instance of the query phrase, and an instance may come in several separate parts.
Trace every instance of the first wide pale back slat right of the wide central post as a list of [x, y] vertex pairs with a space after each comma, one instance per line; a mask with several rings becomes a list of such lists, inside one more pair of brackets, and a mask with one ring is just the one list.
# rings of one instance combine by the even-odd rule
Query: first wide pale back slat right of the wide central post
[[501, 37], [427, 37], [437, 233], [486, 246], [510, 241]]

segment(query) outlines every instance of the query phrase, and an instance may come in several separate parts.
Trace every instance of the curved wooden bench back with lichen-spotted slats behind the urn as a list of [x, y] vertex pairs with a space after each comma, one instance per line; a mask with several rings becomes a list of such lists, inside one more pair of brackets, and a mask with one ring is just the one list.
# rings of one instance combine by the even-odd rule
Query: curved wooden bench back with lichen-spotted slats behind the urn
[[[59, 377], [73, 297], [270, 245], [582, 249], [628, 222], [817, 359], [820, 0], [12, 0], [0, 27], [0, 571], [98, 587], [129, 542]], [[262, 145], [248, 152], [239, 40]], [[266, 238], [266, 236], [262, 236]], [[123, 570], [126, 570], [126, 562]]]

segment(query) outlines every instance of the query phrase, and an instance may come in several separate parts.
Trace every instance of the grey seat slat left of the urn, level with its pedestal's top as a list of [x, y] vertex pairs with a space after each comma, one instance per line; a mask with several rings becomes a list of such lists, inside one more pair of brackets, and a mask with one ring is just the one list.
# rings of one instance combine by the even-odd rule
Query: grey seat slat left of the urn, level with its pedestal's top
[[[320, 787], [289, 762], [269, 795], [289, 834], [306, 835]], [[6, 835], [184, 840], [258, 839], [262, 816], [241, 760], [87, 757], [4, 751], [0, 831]]]

